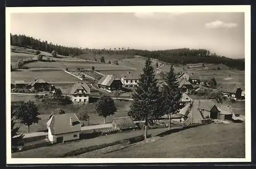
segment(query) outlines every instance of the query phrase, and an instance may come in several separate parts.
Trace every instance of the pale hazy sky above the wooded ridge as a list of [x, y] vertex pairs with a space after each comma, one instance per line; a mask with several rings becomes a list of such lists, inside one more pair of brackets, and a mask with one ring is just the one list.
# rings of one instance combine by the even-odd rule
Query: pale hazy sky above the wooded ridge
[[10, 32], [89, 49], [207, 49], [244, 58], [244, 13], [12, 13]]

